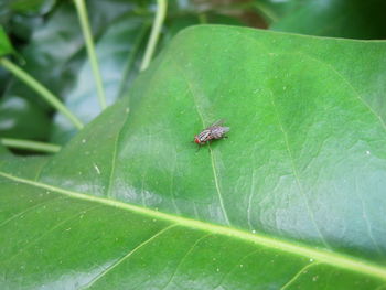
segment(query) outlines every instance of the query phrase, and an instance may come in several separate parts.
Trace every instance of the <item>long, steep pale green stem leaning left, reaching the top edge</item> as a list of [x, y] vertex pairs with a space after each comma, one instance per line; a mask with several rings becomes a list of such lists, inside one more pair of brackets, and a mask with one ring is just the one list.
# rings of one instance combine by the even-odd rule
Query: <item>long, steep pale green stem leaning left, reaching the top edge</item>
[[95, 83], [96, 83], [96, 88], [97, 88], [97, 94], [98, 94], [98, 99], [99, 99], [99, 105], [101, 109], [106, 109], [106, 96], [105, 96], [105, 89], [104, 89], [104, 83], [101, 82], [101, 76], [100, 76], [100, 71], [99, 71], [99, 64], [98, 60], [95, 53], [95, 46], [94, 46], [94, 41], [93, 41], [93, 35], [92, 35], [92, 30], [89, 28], [89, 21], [87, 17], [87, 9], [85, 6], [84, 0], [74, 0], [76, 11], [79, 18], [82, 31], [83, 31], [83, 36], [86, 42], [86, 49], [87, 49], [87, 54], [89, 58], [89, 63], [92, 65]]

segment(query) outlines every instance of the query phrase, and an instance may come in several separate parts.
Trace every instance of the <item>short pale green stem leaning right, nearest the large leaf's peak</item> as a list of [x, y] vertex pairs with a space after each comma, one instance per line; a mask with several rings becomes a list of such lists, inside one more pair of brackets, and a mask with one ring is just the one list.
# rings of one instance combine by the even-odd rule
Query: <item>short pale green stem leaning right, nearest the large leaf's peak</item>
[[156, 13], [156, 19], [153, 22], [153, 26], [151, 28], [151, 34], [150, 34], [148, 45], [146, 47], [144, 56], [140, 68], [141, 71], [144, 71], [146, 68], [148, 68], [150, 64], [151, 57], [153, 56], [153, 53], [156, 50], [157, 41], [160, 36], [163, 20], [167, 15], [168, 0], [157, 0], [157, 3], [158, 3], [158, 9]]

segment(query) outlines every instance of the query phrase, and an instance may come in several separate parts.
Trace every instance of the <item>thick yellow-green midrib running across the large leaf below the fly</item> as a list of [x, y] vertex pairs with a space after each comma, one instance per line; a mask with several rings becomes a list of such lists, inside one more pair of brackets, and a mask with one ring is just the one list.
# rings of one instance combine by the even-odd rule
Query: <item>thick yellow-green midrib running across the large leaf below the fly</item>
[[360, 260], [354, 257], [344, 256], [332, 251], [313, 249], [304, 245], [294, 244], [287, 240], [275, 239], [275, 238], [266, 237], [260, 234], [250, 234], [245, 230], [225, 227], [221, 225], [214, 225], [207, 222], [195, 221], [195, 219], [191, 219], [182, 216], [175, 216], [172, 214], [153, 211], [150, 208], [146, 208], [138, 205], [128, 204], [128, 203], [122, 203], [119, 201], [107, 200], [105, 197], [98, 197], [98, 196], [87, 195], [87, 194], [83, 194], [83, 193], [78, 193], [69, 190], [64, 190], [64, 189], [49, 185], [42, 182], [18, 178], [2, 171], [0, 171], [0, 176], [3, 176], [8, 180], [12, 180], [14, 182], [29, 184], [29, 185], [44, 189], [44, 190], [50, 190], [52, 192], [56, 192], [60, 194], [65, 194], [73, 198], [99, 203], [105, 206], [114, 206], [120, 210], [135, 212], [137, 214], [151, 216], [151, 218], [160, 218], [171, 223], [176, 223], [181, 226], [185, 226], [194, 229], [201, 229], [212, 234], [218, 234], [218, 235], [240, 239], [243, 241], [248, 241], [262, 247], [290, 253], [297, 256], [312, 258], [317, 261], [324, 262], [334, 267], [352, 270], [355, 272], [366, 273], [368, 276], [377, 277], [383, 280], [386, 280], [386, 268], [371, 264], [371, 262], [366, 262], [364, 260]]

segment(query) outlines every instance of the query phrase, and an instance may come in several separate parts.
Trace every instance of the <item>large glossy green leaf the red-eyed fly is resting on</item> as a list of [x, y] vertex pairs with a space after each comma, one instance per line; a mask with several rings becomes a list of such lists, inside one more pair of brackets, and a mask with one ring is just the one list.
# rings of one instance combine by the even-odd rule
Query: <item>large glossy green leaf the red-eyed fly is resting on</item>
[[58, 154], [0, 160], [2, 288], [382, 289], [385, 54], [185, 30]]

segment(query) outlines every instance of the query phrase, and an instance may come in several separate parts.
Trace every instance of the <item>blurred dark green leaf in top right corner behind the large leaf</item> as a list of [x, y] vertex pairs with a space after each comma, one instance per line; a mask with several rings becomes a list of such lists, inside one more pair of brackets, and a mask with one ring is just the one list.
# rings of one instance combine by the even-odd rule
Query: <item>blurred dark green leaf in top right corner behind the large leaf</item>
[[386, 39], [383, 0], [294, 0], [288, 1], [286, 8], [285, 17], [270, 29], [320, 36]]

